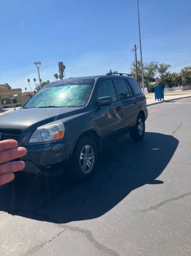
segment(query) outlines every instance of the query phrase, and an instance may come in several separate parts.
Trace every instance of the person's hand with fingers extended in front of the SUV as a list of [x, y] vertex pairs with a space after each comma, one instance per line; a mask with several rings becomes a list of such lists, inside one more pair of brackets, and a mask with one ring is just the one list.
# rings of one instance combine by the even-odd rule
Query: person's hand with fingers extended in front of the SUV
[[9, 183], [14, 180], [15, 175], [12, 172], [21, 171], [25, 164], [23, 161], [6, 163], [10, 160], [21, 158], [27, 154], [24, 147], [18, 147], [18, 143], [14, 139], [0, 141], [0, 185]]

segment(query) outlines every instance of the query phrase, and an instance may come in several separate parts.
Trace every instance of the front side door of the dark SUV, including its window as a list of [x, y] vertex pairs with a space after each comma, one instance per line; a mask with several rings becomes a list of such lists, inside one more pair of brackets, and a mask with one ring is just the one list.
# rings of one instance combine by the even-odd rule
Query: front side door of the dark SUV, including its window
[[100, 133], [104, 137], [122, 129], [124, 121], [122, 104], [117, 101], [116, 89], [112, 79], [105, 79], [99, 82], [96, 98], [98, 100], [101, 97], [112, 97], [113, 101], [111, 105], [99, 108]]

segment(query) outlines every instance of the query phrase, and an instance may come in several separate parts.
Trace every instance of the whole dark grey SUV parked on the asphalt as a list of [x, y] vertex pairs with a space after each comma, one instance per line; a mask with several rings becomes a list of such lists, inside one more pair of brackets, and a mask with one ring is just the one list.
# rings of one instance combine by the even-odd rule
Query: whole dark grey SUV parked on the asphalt
[[71, 176], [82, 181], [95, 171], [106, 139], [119, 133], [143, 138], [147, 115], [133, 77], [77, 77], [45, 85], [22, 109], [3, 115], [0, 138], [27, 148], [24, 171], [56, 174], [67, 162]]

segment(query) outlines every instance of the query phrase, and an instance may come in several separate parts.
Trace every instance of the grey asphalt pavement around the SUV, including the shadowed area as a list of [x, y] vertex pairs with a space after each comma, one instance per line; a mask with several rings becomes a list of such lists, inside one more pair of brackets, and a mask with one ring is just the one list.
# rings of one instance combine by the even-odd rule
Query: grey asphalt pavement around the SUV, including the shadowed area
[[148, 107], [142, 142], [104, 147], [87, 183], [0, 188], [0, 255], [191, 255], [191, 98]]

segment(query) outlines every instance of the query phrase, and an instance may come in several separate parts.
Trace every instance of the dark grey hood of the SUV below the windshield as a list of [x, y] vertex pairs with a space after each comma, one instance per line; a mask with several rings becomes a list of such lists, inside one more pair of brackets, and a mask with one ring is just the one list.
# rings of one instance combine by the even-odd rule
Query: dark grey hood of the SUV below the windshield
[[0, 118], [0, 129], [33, 130], [46, 123], [82, 113], [82, 108], [19, 109]]

